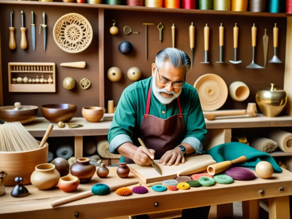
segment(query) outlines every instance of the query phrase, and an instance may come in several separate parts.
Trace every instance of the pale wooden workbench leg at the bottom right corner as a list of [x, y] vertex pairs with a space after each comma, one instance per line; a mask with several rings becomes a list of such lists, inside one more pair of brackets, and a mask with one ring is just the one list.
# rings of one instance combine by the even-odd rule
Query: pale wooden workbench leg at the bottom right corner
[[290, 219], [289, 196], [269, 198], [269, 219]]

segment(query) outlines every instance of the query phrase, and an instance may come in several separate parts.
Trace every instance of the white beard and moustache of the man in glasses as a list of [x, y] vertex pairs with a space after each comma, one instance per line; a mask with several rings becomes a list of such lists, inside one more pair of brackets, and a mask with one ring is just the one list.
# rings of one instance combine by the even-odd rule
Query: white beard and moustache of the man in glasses
[[[157, 98], [157, 100], [159, 100], [159, 102], [161, 102], [162, 104], [170, 104], [173, 100], [178, 98], [178, 96], [182, 92], [182, 89], [180, 89], [179, 93], [175, 93], [173, 90], [169, 92], [166, 90], [165, 87], [159, 89], [156, 85], [156, 76], [157, 76], [157, 69], [155, 69], [154, 77], [152, 78], [152, 92], [153, 92], [154, 96]], [[167, 94], [172, 94], [172, 96], [171, 97], [164, 97], [160, 94], [161, 92], [164, 92]]]

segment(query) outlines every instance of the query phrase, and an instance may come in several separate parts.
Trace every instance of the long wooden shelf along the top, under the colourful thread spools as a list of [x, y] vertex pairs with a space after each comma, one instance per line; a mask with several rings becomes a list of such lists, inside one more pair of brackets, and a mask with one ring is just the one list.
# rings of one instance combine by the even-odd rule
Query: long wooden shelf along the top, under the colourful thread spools
[[191, 13], [191, 14], [210, 14], [210, 15], [241, 15], [241, 16], [258, 16], [258, 17], [282, 17], [286, 13], [269, 13], [269, 12], [250, 12], [250, 11], [215, 11], [215, 10], [198, 10], [182, 8], [150, 8], [144, 6], [126, 6], [126, 5], [107, 5], [107, 4], [86, 4], [86, 3], [66, 3], [66, 2], [42, 2], [42, 1], [13, 1], [2, 0], [0, 4], [21, 4], [36, 6], [67, 6], [83, 8], [103, 8], [108, 10], [125, 10], [125, 11], [148, 11], [148, 12], [169, 12], [169, 13]]

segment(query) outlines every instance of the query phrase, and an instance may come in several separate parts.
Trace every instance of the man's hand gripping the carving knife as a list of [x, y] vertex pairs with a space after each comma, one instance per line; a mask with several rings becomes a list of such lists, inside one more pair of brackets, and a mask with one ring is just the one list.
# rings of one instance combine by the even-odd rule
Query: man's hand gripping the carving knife
[[[154, 153], [155, 153], [154, 150], [140, 146], [134, 153], [132, 160], [136, 164], [139, 164], [141, 166], [151, 165], [152, 164], [151, 159], [152, 160], [154, 159]], [[151, 157], [151, 159], [149, 157]]]

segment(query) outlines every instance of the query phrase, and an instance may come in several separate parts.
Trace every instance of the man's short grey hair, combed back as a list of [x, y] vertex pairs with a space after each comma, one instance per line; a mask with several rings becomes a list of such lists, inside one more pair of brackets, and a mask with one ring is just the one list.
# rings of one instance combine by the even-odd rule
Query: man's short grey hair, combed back
[[157, 69], [161, 69], [165, 61], [170, 61], [171, 64], [176, 67], [185, 67], [186, 73], [191, 70], [190, 57], [184, 51], [177, 48], [164, 48], [159, 51], [155, 58], [155, 65]]

